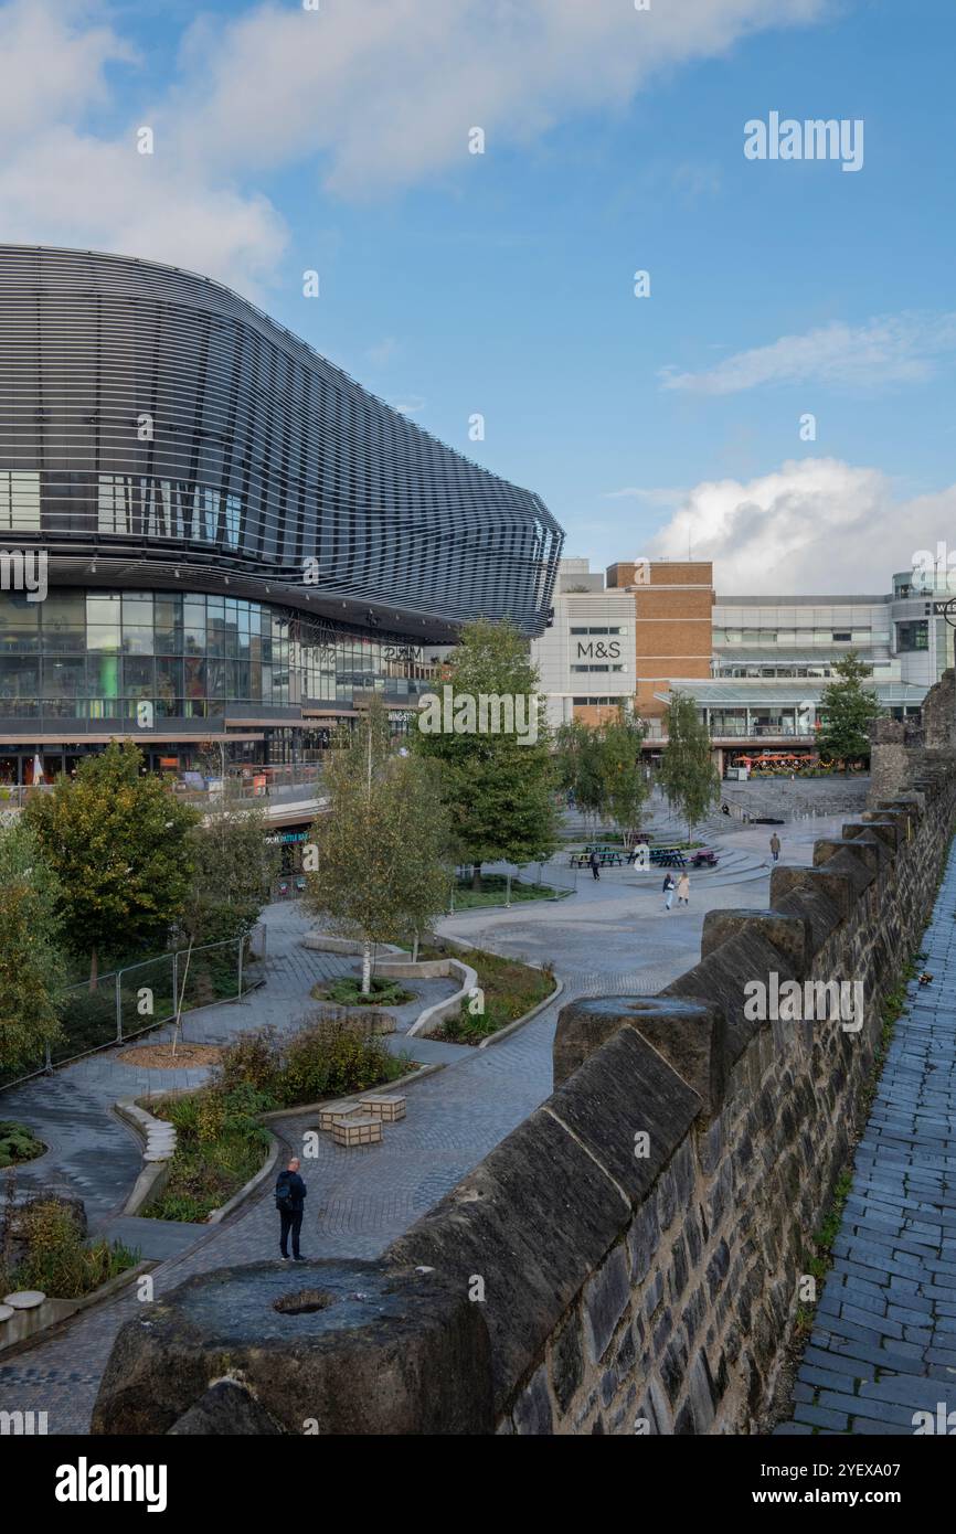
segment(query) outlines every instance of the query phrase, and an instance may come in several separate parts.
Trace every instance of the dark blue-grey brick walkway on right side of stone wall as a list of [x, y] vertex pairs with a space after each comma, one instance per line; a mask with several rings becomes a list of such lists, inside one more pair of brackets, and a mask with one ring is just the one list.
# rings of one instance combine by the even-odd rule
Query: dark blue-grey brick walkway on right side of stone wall
[[910, 982], [776, 1433], [910, 1434], [916, 1411], [956, 1410], [954, 914], [956, 848], [922, 942], [933, 980]]

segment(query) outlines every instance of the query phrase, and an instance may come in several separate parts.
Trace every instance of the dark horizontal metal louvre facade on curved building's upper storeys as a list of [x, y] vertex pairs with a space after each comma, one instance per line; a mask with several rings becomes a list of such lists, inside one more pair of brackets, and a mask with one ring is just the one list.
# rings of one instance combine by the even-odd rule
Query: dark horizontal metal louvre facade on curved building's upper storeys
[[562, 532], [235, 293], [0, 245], [0, 543], [51, 583], [232, 591], [453, 638], [548, 621]]

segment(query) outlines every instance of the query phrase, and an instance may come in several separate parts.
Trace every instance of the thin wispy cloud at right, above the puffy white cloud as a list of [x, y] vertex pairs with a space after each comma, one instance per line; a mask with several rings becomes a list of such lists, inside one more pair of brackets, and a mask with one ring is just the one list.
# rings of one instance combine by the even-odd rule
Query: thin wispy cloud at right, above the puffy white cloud
[[664, 390], [738, 394], [775, 384], [873, 388], [931, 376], [935, 359], [956, 351], [956, 314], [884, 314], [865, 325], [835, 322], [804, 336], [781, 336], [724, 357], [701, 373], [664, 368]]

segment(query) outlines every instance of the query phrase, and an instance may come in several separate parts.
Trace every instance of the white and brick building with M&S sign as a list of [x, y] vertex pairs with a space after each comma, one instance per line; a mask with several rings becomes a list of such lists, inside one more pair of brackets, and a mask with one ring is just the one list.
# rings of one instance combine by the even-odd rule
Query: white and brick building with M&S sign
[[855, 650], [895, 718], [919, 712], [953, 664], [942, 615], [950, 581], [893, 575], [879, 595], [723, 597], [714, 566], [694, 560], [612, 565], [562, 560], [554, 623], [532, 650], [552, 726], [597, 723], [621, 701], [646, 721], [646, 749], [666, 738], [674, 690], [692, 693], [721, 767], [749, 749], [813, 749], [819, 698]]

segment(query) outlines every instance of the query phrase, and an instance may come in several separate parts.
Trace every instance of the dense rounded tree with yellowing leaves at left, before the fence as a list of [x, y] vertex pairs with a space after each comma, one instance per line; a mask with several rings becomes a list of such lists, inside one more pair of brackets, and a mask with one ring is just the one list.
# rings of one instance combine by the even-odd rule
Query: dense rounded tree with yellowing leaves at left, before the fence
[[101, 953], [166, 943], [189, 896], [199, 815], [143, 770], [132, 741], [87, 756], [25, 813], [57, 877], [66, 945], [89, 956], [91, 991]]

